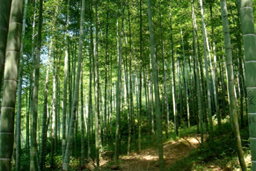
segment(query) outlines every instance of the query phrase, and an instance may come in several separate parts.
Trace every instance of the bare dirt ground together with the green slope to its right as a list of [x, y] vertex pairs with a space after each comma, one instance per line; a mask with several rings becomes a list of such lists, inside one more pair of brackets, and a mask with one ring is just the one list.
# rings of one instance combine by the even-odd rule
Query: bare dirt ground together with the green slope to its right
[[[230, 126], [230, 124], [229, 124]], [[165, 139], [163, 155], [166, 171], [240, 171], [234, 135], [229, 126], [223, 126], [222, 134], [214, 135], [214, 142], [201, 144], [200, 134], [185, 133], [174, 140]], [[195, 129], [195, 128], [194, 128]], [[251, 155], [248, 142], [248, 127], [240, 130], [245, 162], [250, 170]], [[88, 169], [89, 170], [89, 169]], [[97, 169], [96, 169], [97, 170]], [[143, 149], [139, 154], [120, 155], [117, 162], [112, 158], [103, 158], [98, 170], [120, 171], [158, 171], [157, 144]]]

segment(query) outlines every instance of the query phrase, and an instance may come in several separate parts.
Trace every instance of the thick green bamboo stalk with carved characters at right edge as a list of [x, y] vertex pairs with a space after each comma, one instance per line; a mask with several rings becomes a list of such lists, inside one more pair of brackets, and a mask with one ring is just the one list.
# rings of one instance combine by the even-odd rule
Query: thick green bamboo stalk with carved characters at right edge
[[256, 36], [252, 0], [241, 0], [241, 24], [245, 52], [245, 76], [248, 104], [252, 171], [256, 170]]

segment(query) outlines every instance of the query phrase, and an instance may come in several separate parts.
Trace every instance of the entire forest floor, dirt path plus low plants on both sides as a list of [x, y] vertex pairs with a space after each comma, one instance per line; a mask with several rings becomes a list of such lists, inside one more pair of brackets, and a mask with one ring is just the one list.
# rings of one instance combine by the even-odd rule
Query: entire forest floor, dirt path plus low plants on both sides
[[[196, 134], [196, 126], [181, 128], [179, 136], [173, 130], [169, 132], [166, 139], [163, 134], [163, 158], [165, 161], [165, 171], [240, 171], [238, 162], [234, 133], [229, 119], [223, 121], [222, 133], [220, 134], [217, 124], [214, 126], [214, 141], [206, 141], [204, 133], [204, 143], [201, 143], [200, 134]], [[205, 130], [205, 128], [204, 128]], [[249, 144], [248, 127], [240, 129], [242, 149], [248, 171], [251, 169], [251, 154]], [[123, 137], [124, 138], [124, 137]], [[87, 161], [84, 168], [81, 168], [80, 157], [71, 157], [69, 171], [158, 171], [158, 147], [157, 140], [142, 136], [142, 150], [138, 153], [138, 144], [133, 142], [131, 153], [126, 154], [127, 144], [125, 138], [120, 145], [120, 156], [115, 162], [113, 159], [113, 148], [105, 149], [100, 158], [100, 167], [96, 167], [95, 159]], [[55, 156], [56, 169], [60, 171], [62, 160], [60, 156]], [[48, 163], [48, 162], [47, 162]], [[46, 170], [51, 170], [47, 166]]]

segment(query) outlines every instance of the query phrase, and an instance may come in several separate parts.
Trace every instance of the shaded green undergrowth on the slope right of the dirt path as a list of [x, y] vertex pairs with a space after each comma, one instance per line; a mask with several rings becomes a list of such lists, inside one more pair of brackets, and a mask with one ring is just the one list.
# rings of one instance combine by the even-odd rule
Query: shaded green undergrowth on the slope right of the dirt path
[[[251, 167], [248, 127], [240, 130], [242, 148], [248, 169]], [[184, 136], [186, 136], [184, 134]], [[219, 134], [214, 126], [214, 142], [204, 142], [186, 156], [177, 160], [168, 171], [238, 171], [240, 165], [236, 152], [234, 132], [230, 122], [222, 124]]]

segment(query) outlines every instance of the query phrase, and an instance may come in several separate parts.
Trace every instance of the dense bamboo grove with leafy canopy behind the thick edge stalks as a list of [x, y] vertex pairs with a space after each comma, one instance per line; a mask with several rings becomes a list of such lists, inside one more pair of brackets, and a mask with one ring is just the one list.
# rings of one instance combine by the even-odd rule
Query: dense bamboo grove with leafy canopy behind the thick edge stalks
[[[82, 165], [96, 159], [98, 166], [105, 151], [118, 160], [120, 154], [140, 152], [151, 138], [157, 138], [164, 170], [162, 139], [169, 131], [178, 136], [179, 128], [197, 125], [202, 143], [203, 132], [214, 141], [213, 124], [222, 134], [221, 119], [228, 117], [238, 148], [239, 127], [255, 123], [247, 116], [255, 94], [246, 92], [245, 71], [255, 70], [245, 68], [247, 21], [241, 22], [240, 1], [12, 0], [12, 8], [19, 3], [18, 13], [8, 12], [11, 1], [0, 2], [1, 11], [11, 13], [10, 22], [19, 16], [21, 33], [14, 65], [19, 63], [18, 80], [6, 71], [1, 82], [18, 83], [11, 111], [17, 117], [12, 123], [16, 145], [8, 150], [16, 156], [16, 170], [20, 156], [30, 153], [30, 170], [44, 170], [46, 155], [53, 168], [56, 154], [63, 156], [63, 170], [70, 156], [82, 155]], [[8, 53], [7, 44], [5, 70]], [[3, 117], [10, 112], [3, 110], [9, 103], [4, 90]], [[7, 94], [11, 91], [16, 93]], [[1, 133], [2, 117], [0, 124]], [[127, 151], [120, 151], [124, 147]], [[246, 170], [242, 151], [238, 156]]]

